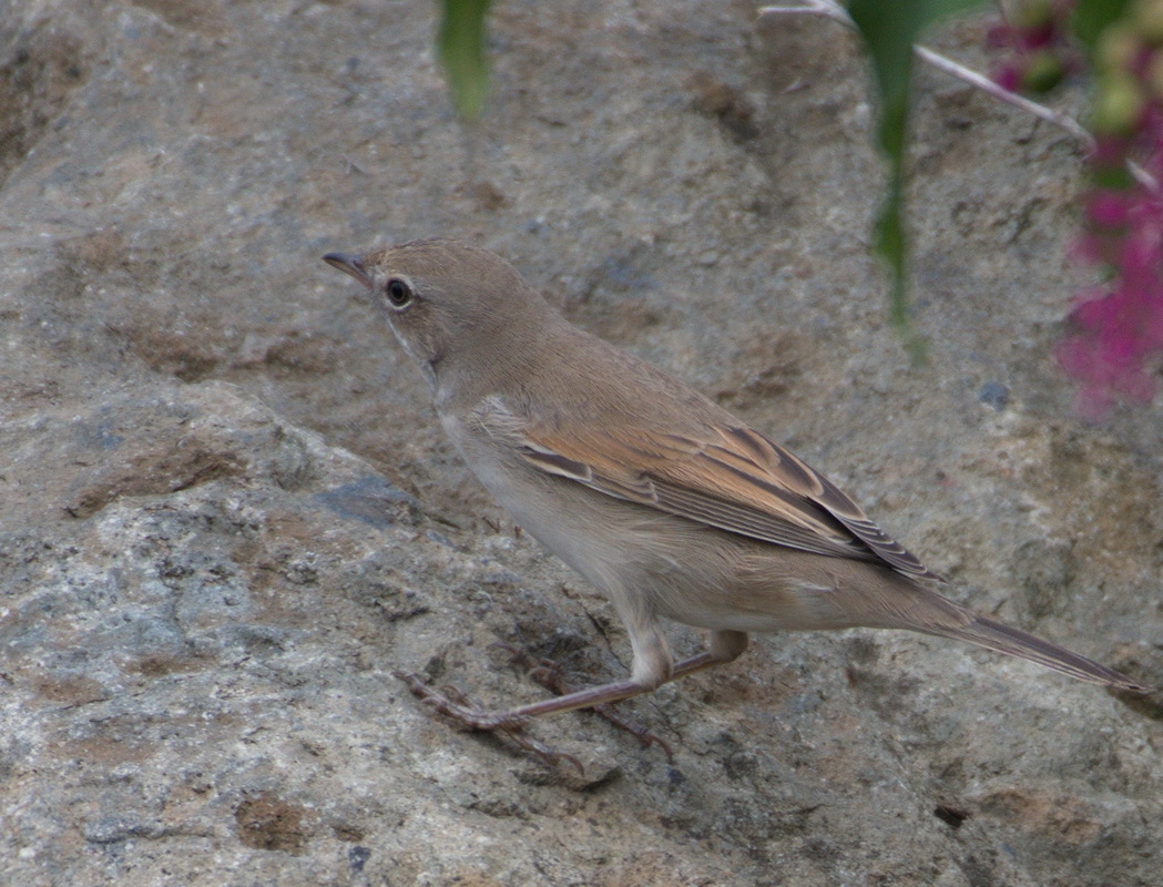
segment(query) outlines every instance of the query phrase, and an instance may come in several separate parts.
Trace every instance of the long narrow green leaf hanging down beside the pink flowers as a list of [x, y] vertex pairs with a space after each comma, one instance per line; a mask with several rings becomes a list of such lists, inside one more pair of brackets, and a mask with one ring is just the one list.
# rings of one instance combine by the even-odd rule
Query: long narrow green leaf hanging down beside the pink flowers
[[913, 44], [934, 21], [982, 5], [983, 0], [851, 0], [848, 5], [872, 56], [880, 95], [877, 142], [889, 160], [889, 187], [876, 224], [876, 249], [891, 276], [890, 317], [905, 337], [914, 363], [923, 360], [925, 344], [909, 321], [908, 244], [902, 219]]

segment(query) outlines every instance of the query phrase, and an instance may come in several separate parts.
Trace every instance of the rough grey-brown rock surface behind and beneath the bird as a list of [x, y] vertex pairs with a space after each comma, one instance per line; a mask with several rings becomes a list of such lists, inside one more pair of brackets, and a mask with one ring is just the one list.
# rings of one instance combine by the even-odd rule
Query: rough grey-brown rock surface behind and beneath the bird
[[[319, 260], [433, 234], [789, 443], [971, 606], [1163, 680], [1161, 405], [1084, 425], [1050, 357], [1063, 136], [922, 72], [909, 370], [837, 26], [500, 3], [466, 130], [430, 14], [0, 16], [0, 884], [1157, 885], [1160, 708], [934, 639], [763, 638], [627, 704], [673, 763], [537, 723], [584, 775], [415, 703], [394, 670], [540, 698], [498, 641], [628, 660]], [[939, 41], [982, 62], [972, 23]]]

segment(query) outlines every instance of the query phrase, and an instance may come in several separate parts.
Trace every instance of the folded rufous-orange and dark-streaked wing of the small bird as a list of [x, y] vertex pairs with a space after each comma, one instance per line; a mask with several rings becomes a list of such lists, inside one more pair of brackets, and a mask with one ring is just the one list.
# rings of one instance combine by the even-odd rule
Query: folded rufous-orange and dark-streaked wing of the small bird
[[536, 422], [497, 400], [478, 420], [530, 465], [606, 495], [776, 545], [939, 578], [826, 477], [750, 428], [713, 425], [694, 436], [627, 422]]

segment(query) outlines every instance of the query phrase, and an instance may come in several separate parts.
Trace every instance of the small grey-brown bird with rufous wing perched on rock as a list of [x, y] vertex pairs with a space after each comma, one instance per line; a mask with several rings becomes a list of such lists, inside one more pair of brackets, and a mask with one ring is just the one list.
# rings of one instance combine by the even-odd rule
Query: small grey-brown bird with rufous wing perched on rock
[[[852, 500], [707, 398], [569, 323], [498, 256], [428, 239], [326, 262], [373, 294], [465, 462], [516, 522], [613, 602], [630, 677], [507, 711], [409, 685], [481, 730], [614, 702], [719, 663], [750, 631], [909, 629], [1079, 680], [1119, 672], [980, 616]], [[708, 629], [675, 663], [663, 620]]]

